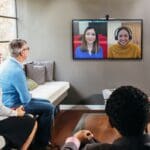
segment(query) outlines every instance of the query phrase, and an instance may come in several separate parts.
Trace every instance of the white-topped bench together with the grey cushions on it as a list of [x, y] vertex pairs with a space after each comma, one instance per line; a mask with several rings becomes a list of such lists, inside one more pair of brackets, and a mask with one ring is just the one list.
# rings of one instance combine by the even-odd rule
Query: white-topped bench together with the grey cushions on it
[[47, 99], [55, 106], [68, 94], [70, 84], [67, 81], [54, 81], [53, 61], [33, 61], [25, 64], [27, 77], [38, 83], [38, 87], [31, 90], [33, 98]]

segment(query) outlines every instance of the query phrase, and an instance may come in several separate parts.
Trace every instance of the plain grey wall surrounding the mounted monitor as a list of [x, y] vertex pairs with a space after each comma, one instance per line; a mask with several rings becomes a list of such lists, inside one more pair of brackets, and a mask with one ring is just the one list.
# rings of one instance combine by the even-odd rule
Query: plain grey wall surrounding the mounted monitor
[[[150, 95], [149, 0], [17, 0], [19, 36], [31, 47], [30, 59], [56, 62], [56, 79], [71, 83], [69, 103], [103, 88], [130, 84]], [[72, 19], [143, 19], [141, 61], [75, 61]]]

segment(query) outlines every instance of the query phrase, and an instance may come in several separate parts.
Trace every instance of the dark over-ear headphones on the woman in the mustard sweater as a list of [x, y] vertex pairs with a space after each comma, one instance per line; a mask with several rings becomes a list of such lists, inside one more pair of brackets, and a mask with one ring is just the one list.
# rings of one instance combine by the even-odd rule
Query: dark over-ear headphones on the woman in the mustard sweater
[[128, 35], [129, 35], [129, 40], [132, 40], [132, 31], [131, 31], [131, 29], [128, 28], [128, 27], [125, 27], [125, 26], [119, 27], [115, 30], [115, 32], [114, 32], [115, 40], [118, 40], [118, 34], [121, 30], [126, 30], [128, 32]]

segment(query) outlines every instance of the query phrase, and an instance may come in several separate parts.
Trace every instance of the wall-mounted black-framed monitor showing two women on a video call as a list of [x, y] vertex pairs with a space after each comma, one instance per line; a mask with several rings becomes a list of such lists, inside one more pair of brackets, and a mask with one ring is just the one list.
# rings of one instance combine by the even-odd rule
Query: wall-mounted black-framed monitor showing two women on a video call
[[142, 59], [142, 31], [142, 19], [72, 20], [73, 59]]

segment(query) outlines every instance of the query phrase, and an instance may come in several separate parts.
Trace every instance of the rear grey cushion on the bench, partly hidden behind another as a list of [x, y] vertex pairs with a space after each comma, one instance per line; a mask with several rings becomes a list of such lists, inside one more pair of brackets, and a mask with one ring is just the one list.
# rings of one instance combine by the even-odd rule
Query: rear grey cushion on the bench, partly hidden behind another
[[45, 79], [46, 81], [52, 81], [53, 80], [53, 67], [54, 62], [53, 61], [33, 61], [34, 65], [43, 65], [45, 66]]

